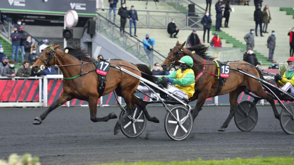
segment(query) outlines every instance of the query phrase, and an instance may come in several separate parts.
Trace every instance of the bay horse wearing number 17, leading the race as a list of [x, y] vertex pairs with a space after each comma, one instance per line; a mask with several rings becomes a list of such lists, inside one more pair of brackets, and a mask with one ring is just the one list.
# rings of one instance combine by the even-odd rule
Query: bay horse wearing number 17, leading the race
[[[51, 45], [45, 48], [37, 61], [32, 65], [32, 69], [37, 73], [40, 73], [44, 69], [44, 66], [46, 68], [58, 65], [64, 76], [62, 81], [63, 92], [60, 97], [54, 101], [40, 117], [36, 117], [33, 124], [41, 124], [52, 110], [72, 99], [79, 99], [89, 103], [90, 120], [92, 122], [107, 122], [110, 119], [116, 119], [117, 116], [114, 113], [110, 113], [108, 116], [102, 118], [97, 117], [97, 101], [100, 97], [98, 85], [100, 82], [98, 81], [94, 59], [88, 58], [86, 56], [87, 52], [80, 48], [65, 48], [65, 50], [67, 50], [66, 53], [57, 49], [58, 47], [59, 45]], [[141, 71], [138, 67], [130, 62], [110, 60], [110, 65], [123, 67], [141, 76]], [[147, 66], [144, 67], [141, 64], [140, 67], [146, 68]], [[138, 79], [119, 69], [110, 67], [106, 75], [105, 83], [105, 89], [101, 96], [115, 90], [119, 96], [123, 97], [128, 111], [134, 109], [133, 105], [136, 104], [143, 110], [148, 121], [159, 123], [156, 117], [151, 118], [148, 115], [144, 102], [134, 95], [139, 85]], [[127, 113], [125, 114], [126, 115], [117, 122], [115, 134], [118, 133], [123, 118], [128, 116]]]

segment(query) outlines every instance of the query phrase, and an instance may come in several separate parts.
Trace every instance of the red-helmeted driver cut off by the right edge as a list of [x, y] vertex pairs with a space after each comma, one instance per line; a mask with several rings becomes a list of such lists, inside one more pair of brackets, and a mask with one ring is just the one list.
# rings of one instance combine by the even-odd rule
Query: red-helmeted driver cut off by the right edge
[[287, 62], [289, 70], [287, 70], [282, 77], [279, 74], [276, 74], [275, 80], [280, 86], [283, 86], [281, 88], [282, 90], [290, 92], [294, 95], [294, 57], [290, 57]]

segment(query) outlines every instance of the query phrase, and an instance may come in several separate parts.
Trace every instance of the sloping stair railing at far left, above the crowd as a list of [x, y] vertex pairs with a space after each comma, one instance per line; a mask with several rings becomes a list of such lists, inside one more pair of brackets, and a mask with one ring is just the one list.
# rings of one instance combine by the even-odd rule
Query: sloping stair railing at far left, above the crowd
[[[7, 40], [11, 40], [11, 32], [13, 31], [13, 27], [20, 27], [20, 25], [16, 24], [15, 22], [11, 21], [9, 18], [7, 18], [6, 16], [2, 15], [3, 17], [3, 21], [0, 24], [0, 33], [6, 37]], [[27, 32], [26, 32], [27, 33]], [[33, 37], [32, 35], [30, 35], [29, 33], [27, 33], [29, 36], [31, 36], [32, 38], [32, 42], [37, 42], [37, 43], [42, 43], [40, 41], [38, 41], [35, 37]], [[39, 45], [35, 44], [36, 49], [39, 49]]]

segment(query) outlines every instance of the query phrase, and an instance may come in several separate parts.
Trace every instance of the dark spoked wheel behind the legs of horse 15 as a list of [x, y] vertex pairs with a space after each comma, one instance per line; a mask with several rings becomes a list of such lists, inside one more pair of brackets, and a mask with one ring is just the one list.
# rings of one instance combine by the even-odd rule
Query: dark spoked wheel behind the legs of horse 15
[[258, 120], [256, 106], [249, 101], [243, 101], [239, 105], [234, 115], [235, 124], [243, 132], [251, 131]]

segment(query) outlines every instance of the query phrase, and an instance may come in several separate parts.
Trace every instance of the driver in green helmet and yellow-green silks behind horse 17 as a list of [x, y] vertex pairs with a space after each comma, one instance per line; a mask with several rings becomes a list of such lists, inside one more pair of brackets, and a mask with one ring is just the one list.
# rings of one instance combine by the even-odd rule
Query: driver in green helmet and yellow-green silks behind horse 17
[[189, 99], [195, 92], [195, 75], [191, 69], [193, 67], [193, 59], [190, 56], [184, 56], [179, 60], [180, 68], [172, 74], [161, 77], [163, 82], [172, 82], [175, 87], [171, 87], [168, 91], [177, 94], [185, 99]]

